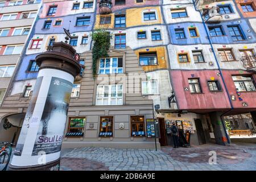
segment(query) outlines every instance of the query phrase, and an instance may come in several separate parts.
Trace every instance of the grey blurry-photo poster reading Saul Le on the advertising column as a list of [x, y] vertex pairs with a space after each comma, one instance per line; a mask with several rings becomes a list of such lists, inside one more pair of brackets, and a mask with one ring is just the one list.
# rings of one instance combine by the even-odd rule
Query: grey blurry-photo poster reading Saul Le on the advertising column
[[66, 123], [63, 121], [67, 121], [72, 85], [62, 78], [52, 77], [32, 156], [40, 151], [52, 154], [61, 150]]

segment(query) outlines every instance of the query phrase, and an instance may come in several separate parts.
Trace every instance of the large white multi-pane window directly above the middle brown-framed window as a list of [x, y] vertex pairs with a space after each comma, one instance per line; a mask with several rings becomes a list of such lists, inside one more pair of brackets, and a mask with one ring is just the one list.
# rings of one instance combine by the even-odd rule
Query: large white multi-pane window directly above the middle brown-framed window
[[122, 105], [123, 85], [98, 85], [96, 105]]

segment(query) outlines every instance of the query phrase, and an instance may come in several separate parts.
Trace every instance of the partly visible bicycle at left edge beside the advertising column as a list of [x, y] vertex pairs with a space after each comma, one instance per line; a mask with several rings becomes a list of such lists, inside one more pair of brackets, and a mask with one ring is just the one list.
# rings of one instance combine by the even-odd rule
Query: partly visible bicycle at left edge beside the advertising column
[[[6, 171], [7, 166], [10, 162], [11, 152], [13, 151], [11, 146], [15, 143], [9, 142], [0, 142], [3, 144], [2, 148], [0, 148], [0, 171]], [[9, 151], [7, 150], [9, 149]]]

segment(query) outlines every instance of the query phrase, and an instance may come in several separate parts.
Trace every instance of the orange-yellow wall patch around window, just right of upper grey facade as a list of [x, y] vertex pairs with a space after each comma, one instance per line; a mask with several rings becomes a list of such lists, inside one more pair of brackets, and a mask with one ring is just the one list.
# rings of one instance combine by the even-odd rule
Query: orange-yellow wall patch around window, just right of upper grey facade
[[138, 49], [135, 51], [136, 55], [138, 56], [138, 60], [139, 60], [139, 53], [146, 53], [146, 52], [156, 52], [156, 55], [158, 56], [158, 65], [142, 66], [145, 72], [151, 72], [158, 69], [167, 69], [168, 56], [166, 53], [166, 47], [150, 47], [150, 48]]

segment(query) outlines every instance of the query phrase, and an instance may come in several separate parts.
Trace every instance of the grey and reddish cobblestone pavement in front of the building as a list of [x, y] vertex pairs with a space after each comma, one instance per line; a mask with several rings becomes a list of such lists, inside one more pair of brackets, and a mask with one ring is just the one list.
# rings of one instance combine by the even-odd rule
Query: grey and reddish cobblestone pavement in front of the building
[[[209, 151], [216, 151], [217, 164], [209, 164]], [[61, 152], [61, 170], [256, 170], [256, 144], [219, 146], [204, 144], [191, 148], [162, 147], [119, 149], [84, 147]]]

